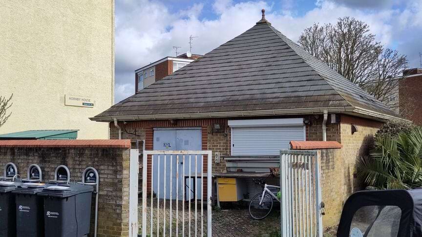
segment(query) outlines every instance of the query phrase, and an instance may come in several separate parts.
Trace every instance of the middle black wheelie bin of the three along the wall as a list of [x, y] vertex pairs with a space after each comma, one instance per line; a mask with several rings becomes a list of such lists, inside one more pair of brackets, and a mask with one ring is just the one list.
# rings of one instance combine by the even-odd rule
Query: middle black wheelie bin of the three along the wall
[[37, 195], [50, 186], [45, 183], [22, 183], [12, 193], [16, 200], [16, 233], [23, 237], [44, 236], [44, 198]]

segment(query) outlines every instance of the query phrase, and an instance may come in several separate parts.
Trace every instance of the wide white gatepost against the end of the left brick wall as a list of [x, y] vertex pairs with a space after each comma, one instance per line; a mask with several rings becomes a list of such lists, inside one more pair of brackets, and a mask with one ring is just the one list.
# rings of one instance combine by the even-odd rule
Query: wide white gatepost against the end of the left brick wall
[[138, 237], [138, 173], [139, 150], [129, 154], [129, 237]]

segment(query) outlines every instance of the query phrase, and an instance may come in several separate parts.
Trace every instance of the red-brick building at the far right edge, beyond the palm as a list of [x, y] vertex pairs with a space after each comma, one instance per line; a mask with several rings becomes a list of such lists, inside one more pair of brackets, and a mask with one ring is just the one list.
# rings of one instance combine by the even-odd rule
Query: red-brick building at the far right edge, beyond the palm
[[403, 71], [399, 83], [399, 107], [401, 114], [416, 125], [422, 125], [422, 68]]

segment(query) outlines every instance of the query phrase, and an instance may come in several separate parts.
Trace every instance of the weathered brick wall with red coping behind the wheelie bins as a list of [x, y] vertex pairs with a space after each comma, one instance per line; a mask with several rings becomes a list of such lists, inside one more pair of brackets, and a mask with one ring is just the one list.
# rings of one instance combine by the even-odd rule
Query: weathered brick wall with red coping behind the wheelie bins
[[[55, 140], [32, 140], [25, 144], [25, 141], [19, 141], [19, 144], [16, 144], [17, 141], [0, 141], [0, 168], [13, 162], [22, 178], [26, 178], [27, 168], [36, 163], [41, 167], [44, 182], [54, 179], [56, 167], [62, 164], [69, 168], [71, 178], [76, 181], [82, 180], [86, 167], [96, 168], [100, 175], [98, 237], [128, 236], [129, 141], [121, 140], [123, 145], [116, 145], [119, 141], [114, 140], [113, 146], [111, 143], [102, 145], [107, 141], [103, 140], [94, 142], [96, 147], [93, 147], [92, 141], [75, 141], [79, 144], [69, 146], [63, 145], [68, 141], [61, 141], [61, 144], [55, 145]], [[93, 197], [90, 236], [94, 233], [94, 201]]]

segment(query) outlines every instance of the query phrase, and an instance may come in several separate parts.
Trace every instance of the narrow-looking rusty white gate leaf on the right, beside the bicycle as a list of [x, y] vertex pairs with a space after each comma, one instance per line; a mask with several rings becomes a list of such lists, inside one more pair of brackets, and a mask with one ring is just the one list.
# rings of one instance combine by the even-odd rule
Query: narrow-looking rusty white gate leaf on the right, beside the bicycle
[[319, 163], [319, 151], [280, 151], [282, 237], [322, 237]]

